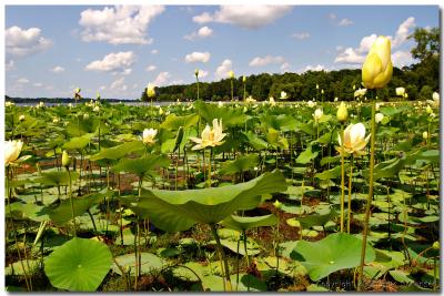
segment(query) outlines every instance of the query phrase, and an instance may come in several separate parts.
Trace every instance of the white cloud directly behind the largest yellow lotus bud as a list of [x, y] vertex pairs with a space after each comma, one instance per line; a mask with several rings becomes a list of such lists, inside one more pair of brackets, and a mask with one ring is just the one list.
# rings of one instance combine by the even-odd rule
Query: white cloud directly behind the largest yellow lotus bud
[[[415, 27], [415, 18], [410, 17], [405, 21], [403, 21], [395, 32], [395, 37], [389, 35], [387, 38], [392, 41], [392, 50], [400, 48], [407, 41], [407, 37], [412, 28]], [[337, 48], [337, 55], [334, 60], [335, 63], [343, 64], [360, 64], [365, 61], [365, 57], [370, 49], [372, 48], [373, 42], [376, 40], [376, 34], [371, 34], [364, 37], [359, 48]], [[406, 52], [398, 51], [392, 54], [393, 64], [394, 65], [406, 65], [406, 63], [412, 63], [412, 57], [407, 57]], [[395, 63], [396, 59], [396, 63]]]

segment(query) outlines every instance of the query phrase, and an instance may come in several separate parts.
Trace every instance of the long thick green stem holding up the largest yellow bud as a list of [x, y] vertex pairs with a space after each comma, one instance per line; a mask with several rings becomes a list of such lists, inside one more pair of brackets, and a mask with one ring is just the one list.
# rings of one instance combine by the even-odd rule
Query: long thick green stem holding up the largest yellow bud
[[361, 265], [359, 268], [359, 277], [357, 277], [357, 290], [362, 290], [363, 288], [363, 275], [364, 275], [364, 262], [365, 262], [365, 248], [367, 245], [367, 232], [369, 232], [369, 218], [370, 218], [370, 206], [373, 200], [373, 171], [374, 171], [374, 154], [375, 154], [375, 113], [376, 113], [376, 102], [372, 101], [372, 116], [371, 121], [371, 140], [370, 140], [370, 180], [369, 180], [369, 197], [365, 207], [365, 220], [364, 220], [364, 233], [362, 234], [362, 249], [361, 249]]

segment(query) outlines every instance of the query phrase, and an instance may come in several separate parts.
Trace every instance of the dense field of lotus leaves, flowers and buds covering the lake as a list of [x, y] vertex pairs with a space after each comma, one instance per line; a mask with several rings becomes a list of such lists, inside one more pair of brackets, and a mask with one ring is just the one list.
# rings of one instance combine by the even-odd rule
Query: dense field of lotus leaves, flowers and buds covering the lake
[[8, 289], [437, 289], [440, 98], [376, 103], [390, 68], [349, 105], [7, 102]]

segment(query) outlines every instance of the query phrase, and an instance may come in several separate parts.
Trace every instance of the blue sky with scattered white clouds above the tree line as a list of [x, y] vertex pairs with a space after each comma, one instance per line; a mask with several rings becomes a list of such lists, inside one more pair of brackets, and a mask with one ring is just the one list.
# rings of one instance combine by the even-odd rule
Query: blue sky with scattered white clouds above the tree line
[[437, 6], [7, 6], [6, 92], [137, 99], [196, 68], [202, 81], [360, 68], [380, 34], [408, 65], [406, 37], [438, 18]]

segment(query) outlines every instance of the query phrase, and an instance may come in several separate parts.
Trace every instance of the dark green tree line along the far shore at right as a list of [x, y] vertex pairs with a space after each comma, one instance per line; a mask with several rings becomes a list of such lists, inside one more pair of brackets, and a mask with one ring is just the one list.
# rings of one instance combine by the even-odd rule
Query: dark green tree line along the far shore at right
[[[434, 91], [440, 88], [440, 29], [417, 28], [408, 37], [416, 43], [412, 50], [415, 63], [402, 69], [393, 69], [393, 79], [387, 88], [380, 90], [377, 95], [382, 100], [395, 98], [395, 88], [405, 88], [408, 100], [431, 99]], [[316, 84], [319, 88], [316, 88]], [[242, 100], [244, 84], [242, 76], [233, 80], [234, 98]], [[339, 71], [307, 71], [305, 73], [283, 74], [252, 74], [246, 76], [246, 96], [255, 100], [268, 100], [270, 96], [279, 99], [281, 91], [285, 91], [287, 100], [322, 100], [333, 101], [339, 98], [341, 101], [354, 100], [354, 89], [361, 86], [361, 69]], [[229, 101], [231, 100], [231, 80], [223, 79], [215, 82], [199, 83], [200, 99], [205, 101]], [[323, 94], [322, 94], [323, 90]], [[157, 101], [196, 100], [198, 84], [181, 84], [157, 88]], [[147, 89], [143, 90], [142, 101], [150, 101], [147, 96]]]

